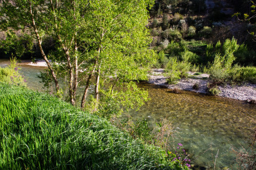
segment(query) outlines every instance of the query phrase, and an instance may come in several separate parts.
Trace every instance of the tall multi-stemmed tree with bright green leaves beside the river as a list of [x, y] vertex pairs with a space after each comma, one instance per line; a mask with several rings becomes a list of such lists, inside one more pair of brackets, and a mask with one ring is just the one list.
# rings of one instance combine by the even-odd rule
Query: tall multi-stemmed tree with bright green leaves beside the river
[[[132, 80], [144, 80], [149, 64], [155, 60], [153, 52], [147, 49], [151, 39], [145, 28], [148, 19], [147, 7], [152, 6], [153, 1], [14, 2], [14, 5], [9, 1], [3, 3], [4, 10], [1, 11], [8, 17], [8, 22], [5, 20], [6, 26], [13, 29], [21, 29], [21, 25], [24, 29], [29, 26], [34, 35], [39, 37], [38, 45], [41, 44], [44, 34], [56, 38], [56, 50], [49, 55], [53, 62], [48, 62], [48, 67], [53, 79], [57, 74], [67, 80], [72, 105], [77, 104], [77, 87], [85, 86], [81, 100], [81, 108], [84, 108], [93, 77], [95, 110], [100, 106], [100, 92], [107, 95], [105, 87], [100, 88], [100, 82], [104, 82], [103, 85], [112, 84], [108, 91], [109, 97], [117, 98], [114, 90], [116, 86], [129, 84], [133, 92], [131, 89], [123, 92], [134, 97], [135, 94], [141, 94], [145, 99], [147, 95], [137, 89]], [[26, 10], [27, 7], [30, 8], [29, 11]], [[18, 19], [14, 24], [11, 18], [17, 13]], [[24, 17], [25, 21], [22, 19]], [[46, 56], [44, 59], [48, 60]], [[136, 98], [137, 101], [141, 99]], [[132, 99], [131, 101], [131, 105], [136, 102]]]

